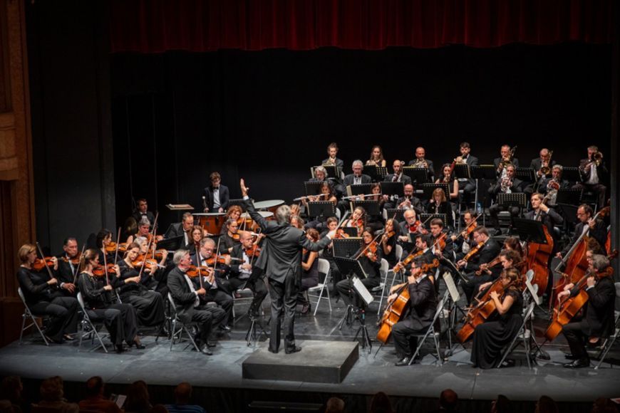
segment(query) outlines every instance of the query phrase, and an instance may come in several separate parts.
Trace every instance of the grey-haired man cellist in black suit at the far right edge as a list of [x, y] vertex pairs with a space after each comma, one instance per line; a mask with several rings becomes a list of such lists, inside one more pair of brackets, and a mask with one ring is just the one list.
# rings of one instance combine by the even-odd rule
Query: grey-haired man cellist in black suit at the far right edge
[[[562, 333], [566, 338], [571, 354], [566, 355], [572, 362], [564, 365], [568, 368], [588, 367], [590, 358], [585, 340], [589, 337], [607, 338], [614, 333], [614, 305], [616, 288], [614, 286], [613, 268], [609, 266], [609, 259], [600, 254], [593, 254], [588, 259], [588, 272], [585, 291], [588, 301], [581, 319], [573, 318], [572, 323], [562, 326]], [[570, 283], [564, 291], [558, 294], [559, 301], [577, 296], [582, 289]]]

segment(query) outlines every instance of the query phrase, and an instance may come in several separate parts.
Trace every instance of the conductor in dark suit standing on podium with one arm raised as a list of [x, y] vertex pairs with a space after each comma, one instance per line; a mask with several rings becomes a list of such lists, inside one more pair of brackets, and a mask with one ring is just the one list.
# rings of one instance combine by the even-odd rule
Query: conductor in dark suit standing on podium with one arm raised
[[275, 214], [277, 221], [267, 221], [254, 209], [254, 204], [247, 196], [243, 179], [239, 182], [239, 186], [245, 209], [266, 236], [256, 266], [267, 275], [269, 296], [272, 298], [269, 351], [279, 350], [280, 315], [284, 312], [284, 351], [287, 354], [298, 352], [301, 347], [295, 345], [294, 323], [297, 292], [301, 286], [301, 250], [321, 251], [331, 242], [334, 231], [329, 232], [317, 243], [311, 242], [306, 238], [304, 231], [291, 226], [289, 206], [282, 205], [277, 209]]

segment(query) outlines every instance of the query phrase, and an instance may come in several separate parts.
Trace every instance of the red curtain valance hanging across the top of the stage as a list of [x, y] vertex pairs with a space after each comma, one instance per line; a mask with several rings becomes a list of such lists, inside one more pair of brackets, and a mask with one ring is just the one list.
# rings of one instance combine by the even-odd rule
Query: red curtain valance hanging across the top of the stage
[[113, 52], [611, 43], [615, 0], [112, 0]]

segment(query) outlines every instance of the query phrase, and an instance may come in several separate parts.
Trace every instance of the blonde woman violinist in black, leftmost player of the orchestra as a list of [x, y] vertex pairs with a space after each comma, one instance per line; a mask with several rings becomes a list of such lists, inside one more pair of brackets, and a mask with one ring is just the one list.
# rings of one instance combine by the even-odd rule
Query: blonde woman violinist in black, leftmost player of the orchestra
[[[78, 300], [67, 297], [62, 291], [68, 291], [65, 283], [58, 285], [58, 280], [49, 272], [33, 271], [36, 261], [36, 246], [24, 244], [17, 251], [21, 265], [17, 271], [17, 281], [24, 293], [26, 304], [35, 315], [49, 315], [50, 323], [43, 330], [46, 338], [53, 343], [73, 340], [73, 333], [78, 330]], [[58, 261], [53, 258], [53, 266]]]

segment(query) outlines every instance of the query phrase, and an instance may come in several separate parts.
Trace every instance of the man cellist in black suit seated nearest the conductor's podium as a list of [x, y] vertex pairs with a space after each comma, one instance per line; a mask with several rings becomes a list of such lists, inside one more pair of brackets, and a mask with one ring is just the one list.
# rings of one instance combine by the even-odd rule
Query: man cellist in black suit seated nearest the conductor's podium
[[[437, 296], [433, 281], [427, 273], [421, 271], [421, 266], [428, 263], [425, 258], [413, 259], [411, 274], [407, 278], [409, 292], [409, 307], [403, 320], [396, 323], [392, 328], [394, 347], [398, 357], [397, 366], [408, 365], [415, 348], [418, 346], [416, 334], [424, 333], [433, 323], [435, 310], [437, 309]], [[393, 303], [398, 293], [392, 293], [388, 297], [388, 305]]]

